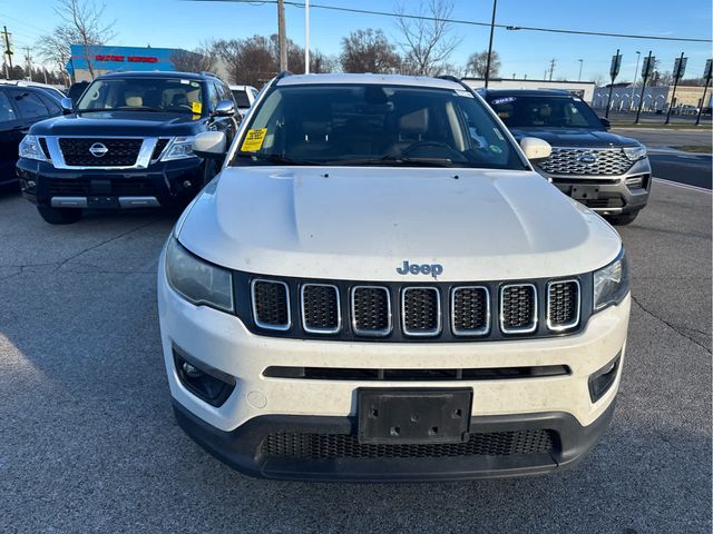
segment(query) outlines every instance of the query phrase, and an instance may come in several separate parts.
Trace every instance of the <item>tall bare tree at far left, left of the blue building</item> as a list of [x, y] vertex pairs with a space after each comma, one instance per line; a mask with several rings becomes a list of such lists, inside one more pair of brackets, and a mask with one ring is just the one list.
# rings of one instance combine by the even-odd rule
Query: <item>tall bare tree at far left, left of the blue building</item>
[[82, 46], [89, 76], [94, 79], [94, 62], [89, 48], [102, 44], [115, 37], [114, 22], [104, 22], [105, 6], [98, 8], [94, 0], [57, 0], [57, 3], [55, 11], [65, 22], [62, 26], [77, 39], [76, 44]]

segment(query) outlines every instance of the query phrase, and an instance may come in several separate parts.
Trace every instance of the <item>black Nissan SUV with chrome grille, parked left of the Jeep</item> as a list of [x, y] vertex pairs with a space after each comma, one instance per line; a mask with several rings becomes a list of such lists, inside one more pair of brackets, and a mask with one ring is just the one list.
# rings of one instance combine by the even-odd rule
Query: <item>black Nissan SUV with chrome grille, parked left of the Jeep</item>
[[50, 224], [82, 208], [183, 206], [219, 170], [193, 154], [196, 134], [235, 135], [229, 89], [209, 73], [114, 72], [65, 116], [33, 125], [17, 164], [22, 192]]

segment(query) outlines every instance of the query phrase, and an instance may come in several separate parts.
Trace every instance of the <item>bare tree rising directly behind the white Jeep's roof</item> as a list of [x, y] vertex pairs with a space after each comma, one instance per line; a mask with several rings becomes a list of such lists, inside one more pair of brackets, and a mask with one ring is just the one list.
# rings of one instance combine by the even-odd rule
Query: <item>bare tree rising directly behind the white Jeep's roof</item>
[[397, 6], [397, 27], [402, 37], [400, 47], [408, 73], [438, 76], [460, 43], [448, 22], [453, 12], [453, 0], [421, 0], [419, 18], [410, 18], [403, 6]]

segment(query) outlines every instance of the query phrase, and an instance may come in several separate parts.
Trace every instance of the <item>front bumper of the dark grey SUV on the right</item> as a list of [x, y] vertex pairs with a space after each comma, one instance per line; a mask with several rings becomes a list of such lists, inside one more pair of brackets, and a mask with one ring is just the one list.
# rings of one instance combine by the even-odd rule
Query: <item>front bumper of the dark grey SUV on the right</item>
[[[536, 170], [557, 189], [602, 215], [618, 215], [643, 209], [651, 194], [652, 174], [648, 158], [636, 161], [621, 176], [560, 176]], [[641, 178], [643, 187], [628, 187], [627, 179]]]

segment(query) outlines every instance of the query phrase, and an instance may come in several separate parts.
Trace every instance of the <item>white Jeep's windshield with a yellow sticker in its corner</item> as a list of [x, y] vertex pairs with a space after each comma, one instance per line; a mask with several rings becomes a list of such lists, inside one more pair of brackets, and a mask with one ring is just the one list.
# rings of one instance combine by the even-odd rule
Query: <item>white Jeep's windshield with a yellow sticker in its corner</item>
[[380, 85], [274, 87], [232, 165], [526, 169], [467, 90]]

